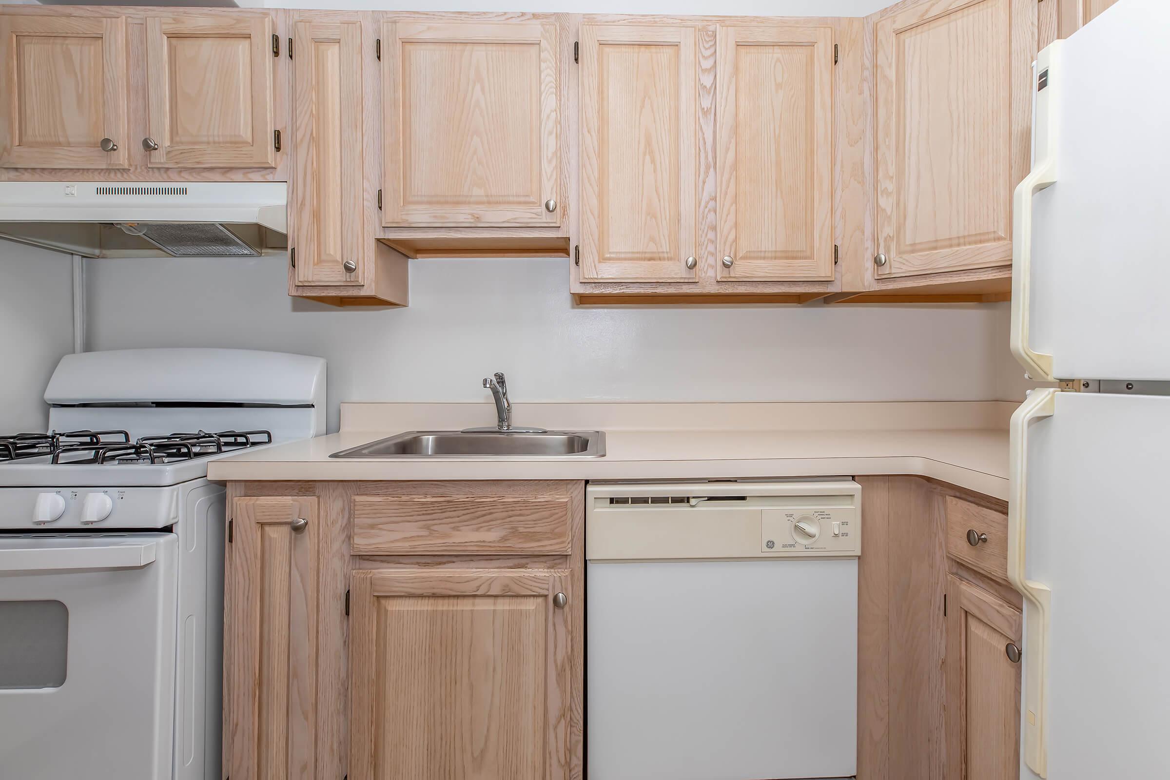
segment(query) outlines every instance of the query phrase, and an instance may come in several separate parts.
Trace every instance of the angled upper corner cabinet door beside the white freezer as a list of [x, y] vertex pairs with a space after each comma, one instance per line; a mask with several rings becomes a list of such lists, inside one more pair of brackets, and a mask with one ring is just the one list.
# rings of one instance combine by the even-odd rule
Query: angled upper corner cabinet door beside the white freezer
[[1035, 6], [927, 0], [878, 21], [878, 278], [1011, 264]]

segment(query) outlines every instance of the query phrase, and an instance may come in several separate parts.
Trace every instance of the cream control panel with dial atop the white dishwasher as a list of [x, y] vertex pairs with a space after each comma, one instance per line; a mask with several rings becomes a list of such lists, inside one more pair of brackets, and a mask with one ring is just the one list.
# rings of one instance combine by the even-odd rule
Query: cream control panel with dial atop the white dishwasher
[[861, 485], [852, 479], [591, 483], [585, 558], [856, 558]]

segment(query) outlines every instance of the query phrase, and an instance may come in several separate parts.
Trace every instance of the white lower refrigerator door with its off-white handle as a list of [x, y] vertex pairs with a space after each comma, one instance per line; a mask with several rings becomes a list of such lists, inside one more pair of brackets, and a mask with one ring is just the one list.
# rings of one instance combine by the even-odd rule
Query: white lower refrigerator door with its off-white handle
[[1012, 420], [1025, 780], [1170, 776], [1168, 432], [1163, 396], [1044, 389]]

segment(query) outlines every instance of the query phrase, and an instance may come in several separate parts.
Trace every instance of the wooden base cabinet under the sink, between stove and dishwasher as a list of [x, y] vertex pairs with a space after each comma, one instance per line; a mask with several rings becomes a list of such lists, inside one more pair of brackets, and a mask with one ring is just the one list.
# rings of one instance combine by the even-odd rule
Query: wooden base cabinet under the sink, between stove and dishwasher
[[581, 780], [584, 492], [232, 483], [225, 776]]

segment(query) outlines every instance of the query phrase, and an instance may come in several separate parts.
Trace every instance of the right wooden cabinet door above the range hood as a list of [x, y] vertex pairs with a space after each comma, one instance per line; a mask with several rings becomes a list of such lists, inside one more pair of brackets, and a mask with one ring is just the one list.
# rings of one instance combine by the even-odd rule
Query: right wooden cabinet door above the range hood
[[147, 16], [149, 165], [274, 167], [273, 60], [267, 14]]

